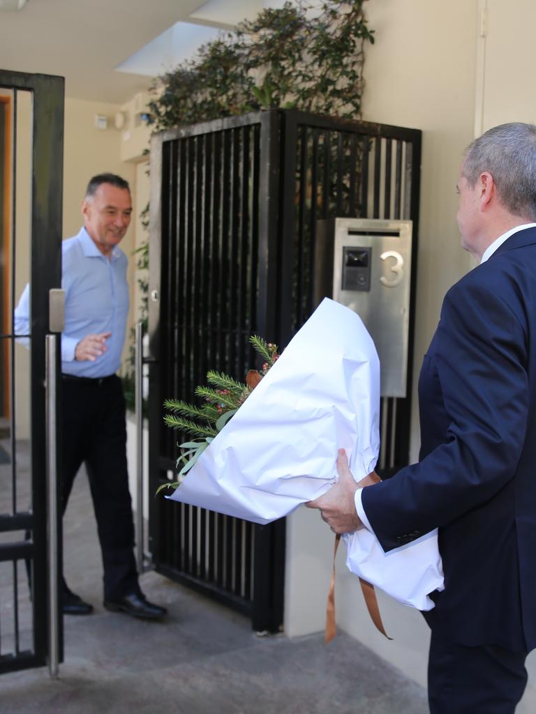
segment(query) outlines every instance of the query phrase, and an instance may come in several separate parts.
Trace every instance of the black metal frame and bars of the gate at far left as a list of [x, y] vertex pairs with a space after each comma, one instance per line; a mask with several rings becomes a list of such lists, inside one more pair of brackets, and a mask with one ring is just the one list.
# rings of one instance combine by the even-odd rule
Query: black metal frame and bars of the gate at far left
[[[0, 70], [0, 87], [12, 93], [14, 104], [14, 129], [16, 132], [16, 102], [19, 91], [32, 96], [32, 147], [31, 147], [31, 507], [19, 508], [16, 499], [16, 433], [11, 419], [11, 488], [15, 494], [12, 513], [0, 516], [0, 531], [29, 533], [29, 540], [0, 545], [0, 560], [14, 564], [14, 593], [16, 565], [26, 560], [31, 568], [32, 620], [21, 623], [19, 604], [14, 597], [16, 623], [15, 648], [11, 653], [0, 653], [0, 673], [44, 665], [49, 652], [48, 590], [47, 590], [47, 509], [46, 509], [46, 421], [45, 421], [45, 336], [49, 332], [49, 291], [61, 288], [61, 220], [63, 200], [63, 136], [64, 136], [64, 79], [43, 74], [23, 74]], [[14, 198], [16, 187], [16, 139], [12, 142], [13, 170], [11, 183]], [[15, 216], [14, 210], [12, 215]], [[15, 236], [16, 226], [12, 226]], [[15, 246], [12, 246], [14, 251]], [[14, 258], [12, 256], [14, 261]], [[11, 310], [16, 299], [14, 262], [11, 270]], [[14, 409], [15, 389], [14, 339], [11, 315], [10, 333], [2, 335], [10, 345], [11, 353], [11, 404]], [[57, 494], [56, 494], [57, 498]], [[27, 504], [25, 505], [27, 508]], [[58, 508], [59, 513], [59, 508]], [[61, 518], [57, 527], [61, 534]], [[61, 543], [61, 538], [59, 538]], [[61, 545], [57, 559], [57, 572], [61, 574]], [[63, 658], [63, 626], [59, 621], [59, 658]], [[1, 625], [1, 623], [0, 623]], [[19, 630], [29, 627], [33, 632], [32, 650], [19, 649]]]

